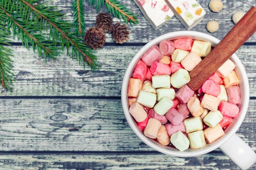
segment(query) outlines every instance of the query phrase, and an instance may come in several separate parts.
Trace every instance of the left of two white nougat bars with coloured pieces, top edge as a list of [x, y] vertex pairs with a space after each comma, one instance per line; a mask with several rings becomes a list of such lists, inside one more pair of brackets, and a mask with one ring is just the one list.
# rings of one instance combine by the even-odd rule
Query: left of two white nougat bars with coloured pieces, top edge
[[164, 0], [133, 0], [155, 30], [173, 17]]

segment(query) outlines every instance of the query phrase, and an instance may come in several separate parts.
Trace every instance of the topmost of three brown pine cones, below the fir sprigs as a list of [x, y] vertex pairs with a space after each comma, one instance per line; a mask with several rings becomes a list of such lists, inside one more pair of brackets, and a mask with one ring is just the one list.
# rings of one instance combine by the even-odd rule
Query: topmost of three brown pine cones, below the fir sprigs
[[113, 24], [113, 20], [109, 13], [102, 13], [102, 12], [98, 13], [98, 16], [96, 19], [96, 25], [99, 28], [102, 28], [105, 32], [106, 31], [110, 32], [112, 28], [112, 24]]

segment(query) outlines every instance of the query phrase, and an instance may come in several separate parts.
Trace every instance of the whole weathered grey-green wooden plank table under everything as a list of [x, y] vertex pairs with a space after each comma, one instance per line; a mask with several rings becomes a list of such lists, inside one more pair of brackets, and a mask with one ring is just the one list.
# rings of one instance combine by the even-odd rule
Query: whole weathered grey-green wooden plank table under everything
[[[209, 0], [199, 0], [207, 11], [192, 31], [208, 33], [209, 20], [220, 29], [211, 35], [222, 39], [234, 26], [236, 11], [247, 11], [255, 0], [224, 0], [219, 13], [209, 11]], [[72, 20], [72, 0], [54, 0]], [[13, 93], [2, 90], [0, 103], [1, 170], [238, 170], [220, 150], [200, 157], [179, 158], [156, 152], [131, 130], [121, 107], [121, 82], [133, 55], [148, 41], [172, 31], [185, 30], [177, 18], [155, 31], [132, 0], [122, 2], [135, 14], [139, 24], [129, 26], [130, 40], [117, 45], [107, 35], [106, 45], [97, 51], [101, 69], [91, 73], [65, 53], [44, 63], [20, 42], [15, 51], [16, 82]], [[87, 28], [95, 25], [96, 10], [84, 3]], [[118, 20], [115, 19], [115, 22]], [[210, 33], [208, 33], [210, 34]], [[250, 103], [237, 132], [256, 150], [256, 35], [236, 53], [245, 64], [250, 83]], [[251, 170], [255, 170], [254, 167]]]

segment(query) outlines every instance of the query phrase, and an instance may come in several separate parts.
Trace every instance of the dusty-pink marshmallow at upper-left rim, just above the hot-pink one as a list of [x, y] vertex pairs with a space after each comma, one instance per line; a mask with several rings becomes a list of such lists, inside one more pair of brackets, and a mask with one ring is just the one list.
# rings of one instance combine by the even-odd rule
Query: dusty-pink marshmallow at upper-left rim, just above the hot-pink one
[[153, 46], [141, 57], [141, 60], [147, 66], [151, 66], [154, 62], [161, 60], [163, 56], [164, 55], [159, 51], [159, 47]]

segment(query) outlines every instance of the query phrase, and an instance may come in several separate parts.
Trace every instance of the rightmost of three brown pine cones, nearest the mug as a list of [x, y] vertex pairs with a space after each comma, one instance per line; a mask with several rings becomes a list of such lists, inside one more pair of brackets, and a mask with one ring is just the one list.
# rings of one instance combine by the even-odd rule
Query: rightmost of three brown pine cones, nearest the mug
[[113, 40], [118, 43], [118, 44], [123, 44], [127, 40], [129, 40], [129, 33], [130, 31], [127, 31], [127, 25], [121, 25], [120, 22], [117, 22], [115, 25], [112, 27], [112, 35], [113, 35]]

